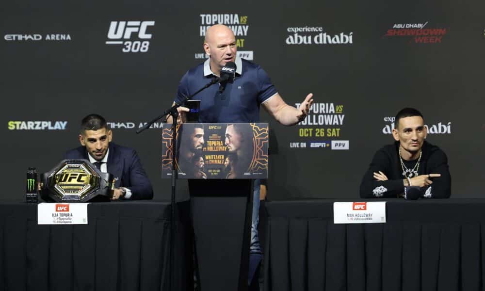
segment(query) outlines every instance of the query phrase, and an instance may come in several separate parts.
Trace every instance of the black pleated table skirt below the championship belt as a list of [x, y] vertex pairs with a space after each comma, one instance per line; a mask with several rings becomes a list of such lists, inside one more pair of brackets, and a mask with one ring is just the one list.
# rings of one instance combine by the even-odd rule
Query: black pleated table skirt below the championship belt
[[[173, 290], [186, 290], [192, 272], [188, 203], [178, 207]], [[168, 290], [169, 203], [93, 203], [88, 223], [37, 225], [36, 205], [0, 204], [1, 289]]]

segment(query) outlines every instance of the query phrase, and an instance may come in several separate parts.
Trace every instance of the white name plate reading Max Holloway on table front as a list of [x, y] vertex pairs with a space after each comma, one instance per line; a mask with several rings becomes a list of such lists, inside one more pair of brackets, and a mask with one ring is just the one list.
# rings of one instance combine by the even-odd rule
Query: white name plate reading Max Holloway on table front
[[386, 202], [334, 202], [334, 224], [386, 223]]

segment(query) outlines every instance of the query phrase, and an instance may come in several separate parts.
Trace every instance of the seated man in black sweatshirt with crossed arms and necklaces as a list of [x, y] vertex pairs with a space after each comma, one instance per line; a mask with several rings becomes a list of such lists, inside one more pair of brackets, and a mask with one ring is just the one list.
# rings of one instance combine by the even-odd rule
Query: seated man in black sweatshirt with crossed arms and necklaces
[[394, 144], [378, 150], [360, 184], [360, 197], [403, 197], [404, 188], [420, 187], [421, 197], [449, 198], [451, 175], [448, 158], [426, 142], [422, 114], [404, 108], [395, 118]]

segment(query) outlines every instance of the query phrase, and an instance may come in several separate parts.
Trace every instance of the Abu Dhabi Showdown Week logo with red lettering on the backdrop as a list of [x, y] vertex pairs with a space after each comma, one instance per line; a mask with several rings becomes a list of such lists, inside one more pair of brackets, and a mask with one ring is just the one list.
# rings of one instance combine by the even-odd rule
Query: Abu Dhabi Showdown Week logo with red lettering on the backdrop
[[447, 33], [446, 28], [430, 27], [425, 23], [395, 23], [384, 37], [406, 38], [409, 43], [436, 44], [441, 43]]

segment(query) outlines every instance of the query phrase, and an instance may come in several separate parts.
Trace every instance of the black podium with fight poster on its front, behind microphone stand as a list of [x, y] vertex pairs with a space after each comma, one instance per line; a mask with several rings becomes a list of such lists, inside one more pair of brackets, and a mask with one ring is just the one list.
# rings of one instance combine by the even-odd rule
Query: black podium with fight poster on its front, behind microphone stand
[[[162, 177], [172, 178], [172, 133], [162, 133]], [[185, 123], [178, 178], [188, 179], [199, 291], [248, 290], [253, 180], [267, 178], [268, 124]]]

